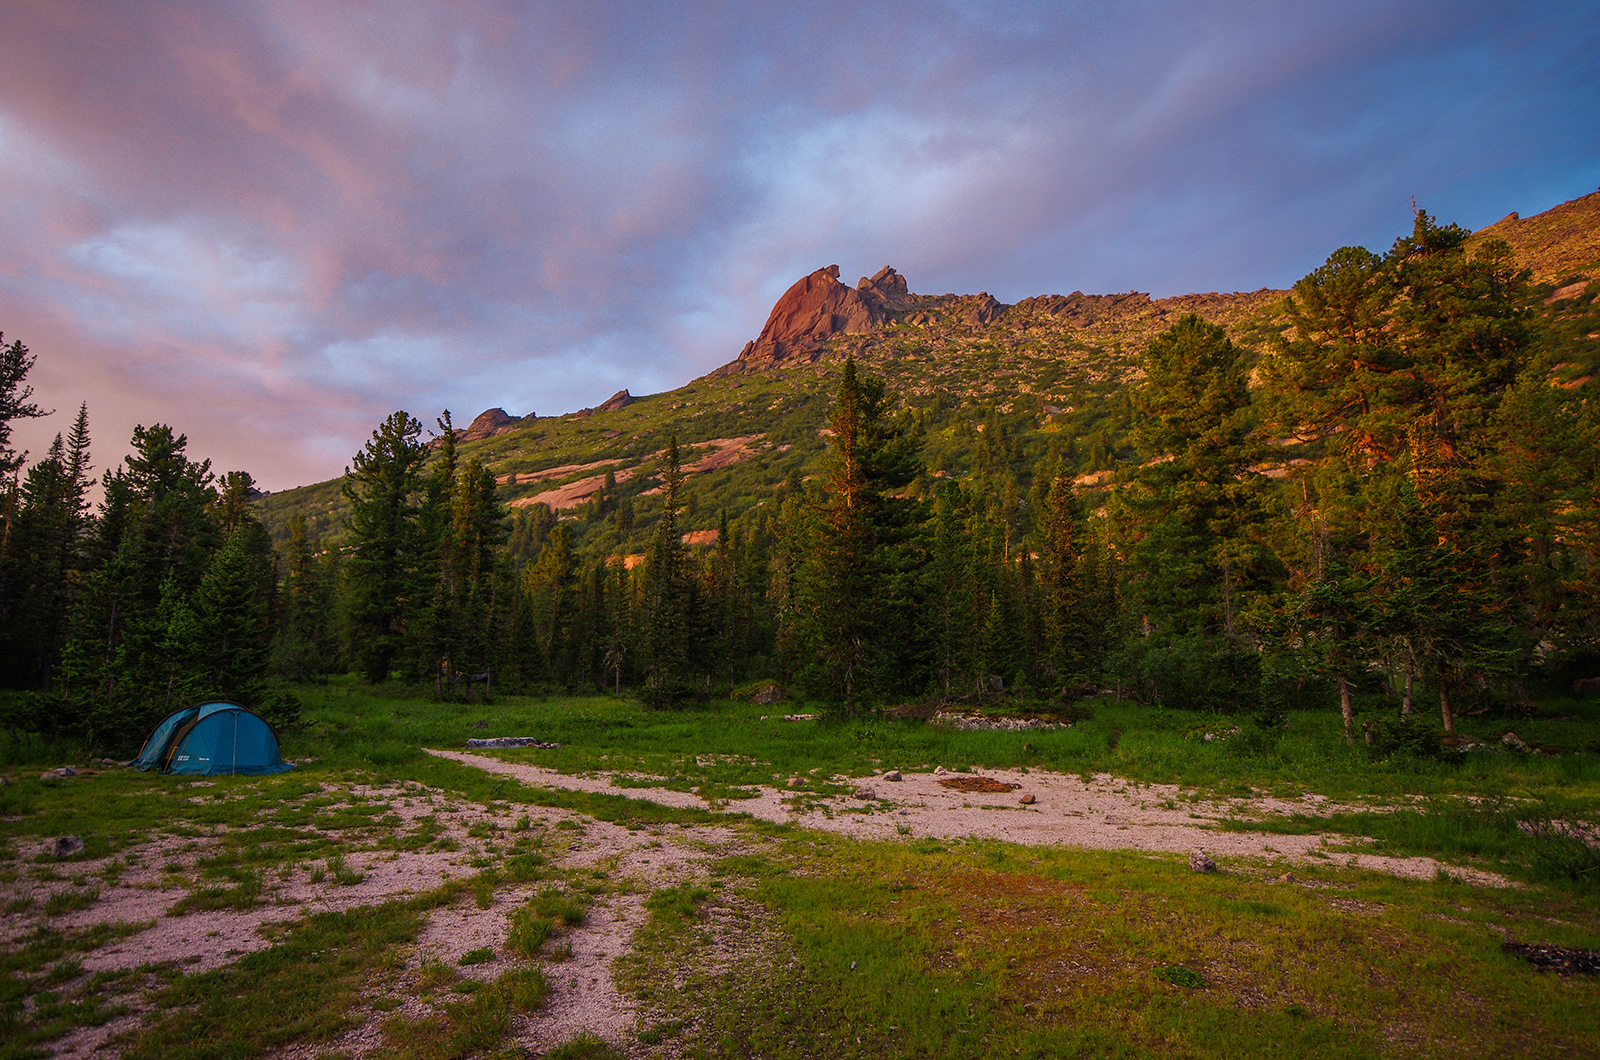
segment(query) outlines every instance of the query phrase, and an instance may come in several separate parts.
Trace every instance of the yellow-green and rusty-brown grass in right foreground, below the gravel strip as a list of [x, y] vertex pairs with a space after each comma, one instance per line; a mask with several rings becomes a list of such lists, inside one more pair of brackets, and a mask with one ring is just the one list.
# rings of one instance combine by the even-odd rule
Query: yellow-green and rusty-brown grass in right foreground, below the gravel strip
[[1485, 930], [1525, 897], [802, 833], [723, 868], [781, 921], [763, 958], [722, 967], [704, 917], [685, 916], [698, 903], [658, 892], [629, 961], [690, 1055], [1370, 1057], [1405, 1041], [1405, 1055], [1560, 1057], [1600, 1041], [1589, 983], [1507, 959]]

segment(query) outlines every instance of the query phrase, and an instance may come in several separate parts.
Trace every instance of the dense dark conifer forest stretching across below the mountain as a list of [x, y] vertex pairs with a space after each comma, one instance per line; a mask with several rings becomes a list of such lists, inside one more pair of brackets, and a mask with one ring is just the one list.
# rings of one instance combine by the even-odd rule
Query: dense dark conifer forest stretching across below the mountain
[[352, 456], [336, 533], [294, 516], [274, 541], [253, 479], [165, 424], [91, 511], [88, 410], [32, 464], [10, 447], [42, 415], [13, 341], [0, 724], [126, 749], [203, 697], [293, 724], [294, 682], [352, 671], [656, 708], [774, 682], [840, 713], [1115, 690], [1270, 727], [1325, 705], [1368, 741], [1518, 711], [1600, 674], [1600, 410], [1570, 371], [1600, 283], [1534, 298], [1469, 235], [1419, 211], [1250, 339], [1179, 317], [1082, 434], [1024, 439], [846, 354], [822, 436], [714, 516], [675, 437], [629, 488], [512, 511], [448, 413], [426, 439], [405, 412]]

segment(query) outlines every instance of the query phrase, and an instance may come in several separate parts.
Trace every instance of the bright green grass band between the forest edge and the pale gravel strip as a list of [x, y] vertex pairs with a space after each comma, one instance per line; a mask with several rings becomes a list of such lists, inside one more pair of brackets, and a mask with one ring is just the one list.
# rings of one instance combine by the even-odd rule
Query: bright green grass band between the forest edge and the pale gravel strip
[[[1549, 717], [1482, 719], [1462, 729], [1483, 738], [1515, 729], [1530, 743], [1565, 749], [1557, 757], [1474, 753], [1462, 761], [1419, 761], [1376, 756], [1365, 746], [1344, 745], [1338, 713], [1291, 713], [1275, 746], [1259, 751], [1238, 743], [1198, 738], [1197, 730], [1226, 729], [1234, 719], [1141, 706], [1110, 698], [1090, 703], [1093, 716], [1072, 729], [1053, 732], [955, 732], [915, 721], [858, 719], [850, 722], [784, 722], [782, 708], [747, 703], [651, 713], [630, 700], [610, 697], [518, 698], [493, 706], [440, 705], [426, 700], [382, 700], [352, 685], [302, 690], [307, 727], [326, 732], [306, 751], [358, 762], [363, 748], [384, 740], [416, 746], [459, 748], [485, 735], [477, 722], [488, 716], [493, 733], [536, 735], [562, 743], [555, 751], [496, 751], [507, 761], [528, 761], [563, 772], [638, 772], [650, 780], [619, 783], [659, 785], [678, 791], [698, 788], [709, 799], [736, 809], [749, 786], [771, 785], [790, 775], [866, 775], [872, 769], [933, 769], [934, 765], [1038, 767], [1059, 772], [1115, 772], [1141, 781], [1205, 788], [1283, 785], [1330, 797], [1389, 797], [1400, 794], [1474, 793], [1485, 788], [1573, 789], [1600, 793], [1600, 711], [1592, 703], [1552, 705]], [[1366, 705], [1376, 713], [1381, 705]], [[1557, 721], [1578, 714], [1579, 722]], [[763, 716], [765, 721], [763, 721]], [[427, 769], [426, 762], [418, 762]], [[819, 785], [824, 786], [826, 785]]]

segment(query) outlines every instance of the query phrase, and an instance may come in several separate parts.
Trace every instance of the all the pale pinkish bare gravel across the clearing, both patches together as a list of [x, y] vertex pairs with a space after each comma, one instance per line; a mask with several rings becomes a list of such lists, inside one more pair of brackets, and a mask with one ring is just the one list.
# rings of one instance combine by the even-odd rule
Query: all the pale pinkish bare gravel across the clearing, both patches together
[[[805, 781], [800, 789], [760, 786], [755, 797], [723, 802], [667, 788], [624, 788], [618, 786], [611, 775], [563, 775], [486, 754], [442, 749], [429, 753], [512, 777], [523, 785], [750, 815], [864, 841], [978, 837], [1101, 850], [1165, 853], [1203, 850], [1218, 860], [1222, 871], [1243, 861], [1326, 865], [1333, 860], [1395, 876], [1430, 879], [1442, 868], [1432, 858], [1326, 852], [1322, 836], [1211, 829], [1218, 821], [1229, 818], [1355, 809], [1330, 804], [1320, 796], [1291, 801], [1264, 796], [1200, 799], [1176, 786], [1136, 785], [1104, 773], [1083, 778], [1035, 770], [982, 773], [939, 770], [904, 773], [899, 780], [893, 778], [896, 773], [864, 780], [829, 778], [832, 783], [850, 786], [854, 794], [846, 796], [808, 793], [803, 786], [810, 781]], [[974, 783], [978, 778], [986, 778], [987, 783]], [[630, 778], [630, 783], [638, 780]], [[955, 781], [955, 786], [950, 786], [950, 781]], [[989, 791], [958, 788], [989, 788]], [[157, 834], [149, 842], [126, 847], [115, 857], [74, 858], [59, 863], [58, 873], [19, 873], [10, 885], [0, 887], [0, 900], [8, 903], [8, 911], [0, 916], [0, 946], [26, 945], [24, 940], [42, 927], [83, 930], [96, 924], [123, 924], [130, 925], [133, 934], [77, 954], [82, 959], [82, 975], [64, 988], [82, 986], [94, 972], [152, 964], [176, 964], [189, 974], [216, 969], [269, 946], [274, 922], [296, 921], [315, 911], [379, 905], [430, 890], [451, 877], [472, 876], [477, 873], [472, 863], [477, 860], [482, 865], [485, 855], [494, 853], [496, 842], [517, 834], [514, 818], [526, 813], [530, 831], [544, 837], [541, 852], [568, 877], [574, 877], [574, 873], [578, 877], [592, 877], [602, 893], [595, 897], [587, 919], [578, 927], [563, 929], [555, 940], [554, 956], [547, 953], [542, 959], [550, 993], [539, 1010], [517, 1017], [514, 1025], [517, 1046], [538, 1055], [576, 1034], [587, 1033], [622, 1052], [638, 1052], [637, 1033], [661, 1014], [640, 1012], [635, 1002], [618, 990], [613, 964], [630, 950], [634, 932], [645, 921], [645, 898], [659, 887], [707, 881], [710, 866], [717, 860], [746, 852], [754, 842], [746, 833], [731, 826], [664, 825], [629, 829], [558, 809], [477, 805], [421, 785], [370, 788], [330, 783], [307, 797], [322, 796], [338, 796], [366, 805], [381, 802], [386, 813], [400, 818], [392, 828], [394, 833], [414, 829], [422, 818], [432, 818], [434, 834], [453, 849], [437, 849], [438, 844], [408, 852], [357, 849], [344, 855], [344, 866], [354, 869], [344, 876], [344, 882], [334, 879], [334, 873], [323, 861], [288, 865], [262, 874], [261, 901], [253, 908], [173, 916], [174, 906], [200, 887], [197, 863], [214, 855], [221, 839]], [[1328, 841], [1347, 844], [1349, 837], [1330, 836]], [[19, 855], [19, 866], [38, 853], [46, 853], [51, 842], [18, 849], [14, 853]], [[1456, 879], [1480, 885], [1509, 885], [1493, 873], [1454, 866], [1448, 871]], [[357, 874], [358, 881], [354, 879]], [[494, 889], [488, 908], [464, 900], [434, 911], [421, 937], [402, 948], [406, 975], [426, 961], [437, 961], [456, 969], [462, 977], [494, 980], [514, 964], [504, 950], [510, 913], [549, 885], [552, 885], [549, 881], [502, 882]], [[85, 908], [56, 916], [45, 913], [51, 895], [91, 889], [98, 890], [98, 897]], [[741, 932], [733, 930], [726, 945], [734, 948], [742, 945], [738, 935]], [[570, 956], [566, 956], [568, 945]], [[485, 948], [493, 951], [493, 959], [458, 964], [467, 951]], [[429, 1012], [427, 1002], [411, 996], [403, 986], [392, 993], [402, 1001], [394, 1015], [419, 1017]], [[146, 1015], [147, 1002], [142, 988], [138, 986], [109, 1001], [130, 1006], [130, 1015], [115, 1018], [106, 1026], [74, 1030], [50, 1044], [53, 1054], [83, 1057], [99, 1050], [96, 1055], [115, 1055], [114, 1050], [101, 1047], [107, 1038], [134, 1028]], [[387, 1018], [390, 1012], [374, 1007], [365, 1022], [347, 1034], [285, 1055], [310, 1060], [331, 1050], [352, 1058], [362, 1057], [382, 1044]]]

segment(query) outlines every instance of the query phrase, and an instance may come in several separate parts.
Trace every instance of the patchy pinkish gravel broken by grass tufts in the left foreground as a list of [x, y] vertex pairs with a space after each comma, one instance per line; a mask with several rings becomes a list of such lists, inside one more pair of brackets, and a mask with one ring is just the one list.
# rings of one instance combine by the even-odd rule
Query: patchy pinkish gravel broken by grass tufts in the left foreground
[[[98, 924], [126, 924], [138, 930], [98, 950], [72, 954], [82, 961], [82, 975], [61, 985], [80, 988], [94, 972], [138, 969], [154, 964], [176, 964], [186, 974], [198, 974], [232, 964], [246, 953], [267, 948], [270, 925], [296, 921], [309, 913], [339, 911], [379, 905], [437, 887], [450, 877], [472, 876], [486, 847], [518, 834], [515, 818], [526, 813], [530, 831], [544, 836], [541, 853], [563, 869], [579, 869], [605, 882], [589, 916], [578, 927], [562, 929], [555, 940], [571, 956], [542, 961], [550, 993], [546, 1004], [517, 1018], [517, 1042], [534, 1054], [570, 1041], [579, 1033], [597, 1034], [611, 1042], [629, 1041], [638, 1023], [634, 1004], [618, 991], [611, 962], [627, 953], [634, 930], [645, 919], [645, 898], [658, 887], [709, 877], [710, 863], [741, 849], [734, 829], [715, 826], [627, 828], [595, 821], [581, 813], [557, 809], [477, 805], [451, 793], [421, 785], [366, 788], [362, 785], [323, 785], [320, 793], [358, 799], [368, 805], [379, 802], [382, 812], [400, 818], [395, 833], [414, 829], [421, 818], [434, 818], [435, 834], [458, 844], [456, 850], [355, 850], [344, 855], [344, 865], [360, 874], [360, 882], [339, 884], [325, 860], [267, 871], [261, 879], [261, 903], [245, 909], [219, 909], [173, 916], [174, 906], [203, 885], [198, 861], [221, 847], [218, 836], [158, 834], [146, 844], [123, 849], [109, 858], [70, 860], [51, 865], [50, 873], [21, 873], [0, 887], [0, 900], [11, 909], [0, 916], [0, 946], [16, 948], [38, 929], [75, 932]], [[493, 825], [488, 836], [472, 837], [480, 825]], [[562, 828], [560, 825], [565, 825]], [[50, 849], [48, 842], [27, 844], [18, 850], [24, 863]], [[320, 882], [312, 874], [322, 869]], [[414, 945], [403, 948], [406, 967], [414, 970], [424, 961], [438, 961], [458, 969], [462, 977], [498, 978], [515, 959], [504, 951], [509, 917], [549, 881], [499, 884], [493, 903], [478, 908], [470, 898], [454, 906], [435, 909]], [[48, 916], [45, 903], [62, 890], [96, 889], [99, 897], [83, 909]], [[22, 908], [26, 906], [26, 908]], [[266, 929], [266, 930], [264, 930]], [[470, 950], [488, 948], [491, 961], [459, 966]], [[547, 946], [550, 950], [552, 946]], [[427, 1006], [400, 991], [402, 1007], [390, 1012], [371, 1010], [355, 1030], [333, 1042], [288, 1050], [286, 1057], [317, 1057], [326, 1050], [360, 1057], [382, 1042], [382, 1026], [390, 1015], [424, 1015]], [[50, 1042], [54, 1055], [99, 1055], [104, 1042], [134, 1028], [147, 1014], [139, 991], [107, 998], [107, 1004], [126, 1004], [130, 1015], [104, 1026], [77, 1028]], [[99, 1050], [99, 1052], [96, 1052]]]

